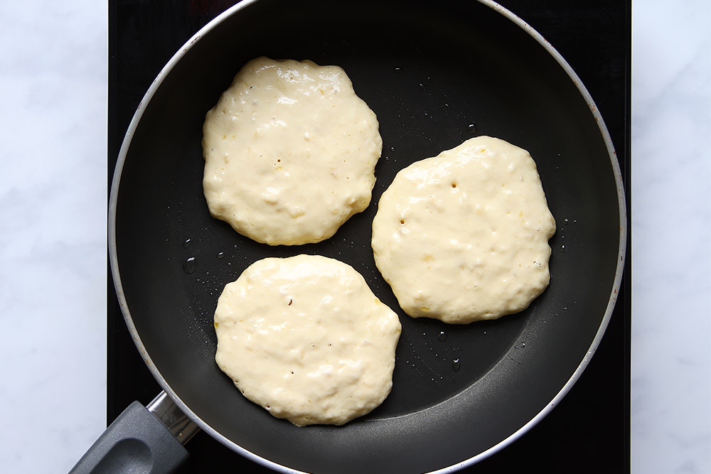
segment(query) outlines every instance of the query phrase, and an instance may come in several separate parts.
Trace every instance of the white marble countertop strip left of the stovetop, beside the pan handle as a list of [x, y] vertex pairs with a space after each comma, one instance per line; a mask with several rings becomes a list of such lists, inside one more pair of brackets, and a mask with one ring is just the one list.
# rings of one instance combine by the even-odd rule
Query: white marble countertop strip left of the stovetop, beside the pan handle
[[0, 471], [105, 424], [107, 6], [0, 2]]

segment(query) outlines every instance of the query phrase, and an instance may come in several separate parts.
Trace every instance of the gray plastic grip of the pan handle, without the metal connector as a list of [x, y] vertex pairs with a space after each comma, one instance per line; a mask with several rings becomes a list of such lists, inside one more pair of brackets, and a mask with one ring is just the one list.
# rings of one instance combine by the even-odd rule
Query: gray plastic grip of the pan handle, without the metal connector
[[70, 474], [169, 474], [188, 451], [156, 416], [133, 402], [102, 433]]

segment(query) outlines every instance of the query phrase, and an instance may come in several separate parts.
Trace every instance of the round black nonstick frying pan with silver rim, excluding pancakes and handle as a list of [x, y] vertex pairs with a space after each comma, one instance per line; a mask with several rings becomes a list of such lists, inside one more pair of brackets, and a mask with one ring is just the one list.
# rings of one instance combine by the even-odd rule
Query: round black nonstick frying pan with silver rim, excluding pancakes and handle
[[[340, 65], [378, 115], [383, 157], [373, 201], [325, 242], [268, 247], [208, 213], [204, 114], [258, 55]], [[528, 149], [538, 164], [558, 225], [550, 286], [498, 321], [414, 320], [375, 269], [370, 222], [397, 171], [476, 134]], [[238, 4], [151, 85], [119, 153], [109, 209], [117, 297], [168, 396], [161, 400], [282, 472], [454, 470], [513, 442], [557, 404], [597, 348], [625, 240], [619, 166], [592, 99], [550, 45], [488, 1]], [[345, 426], [300, 429], [274, 419], [214, 362], [212, 314], [224, 284], [257, 259], [298, 253], [351, 264], [401, 316], [390, 397]]]

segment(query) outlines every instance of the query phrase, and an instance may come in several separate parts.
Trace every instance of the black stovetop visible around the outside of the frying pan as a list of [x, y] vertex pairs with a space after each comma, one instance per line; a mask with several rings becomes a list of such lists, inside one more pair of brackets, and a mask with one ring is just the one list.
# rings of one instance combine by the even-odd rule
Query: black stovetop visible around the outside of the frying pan
[[[139, 101], [164, 64], [232, 0], [109, 0], [109, 185], [119, 147]], [[629, 0], [502, 0], [542, 34], [577, 72], [596, 102], [620, 159], [629, 208]], [[168, 5], [169, 4], [169, 5]], [[629, 216], [629, 209], [628, 209]], [[628, 237], [629, 239], [629, 237]], [[629, 241], [627, 244], [629, 262]], [[602, 343], [562, 402], [518, 441], [463, 473], [629, 472], [630, 278], [626, 266]], [[160, 387], [124, 324], [109, 274], [107, 423], [134, 400], [148, 404]], [[272, 472], [205, 433], [186, 446], [179, 473]]]

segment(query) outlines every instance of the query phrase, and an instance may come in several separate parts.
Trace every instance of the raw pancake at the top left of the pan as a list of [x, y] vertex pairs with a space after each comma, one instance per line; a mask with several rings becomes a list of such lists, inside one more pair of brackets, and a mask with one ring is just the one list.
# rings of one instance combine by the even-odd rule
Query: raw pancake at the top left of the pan
[[205, 199], [257, 242], [320, 242], [368, 207], [382, 147], [343, 69], [257, 58], [205, 117]]

